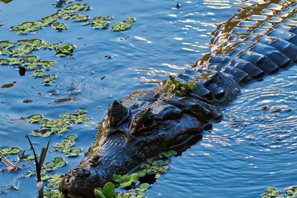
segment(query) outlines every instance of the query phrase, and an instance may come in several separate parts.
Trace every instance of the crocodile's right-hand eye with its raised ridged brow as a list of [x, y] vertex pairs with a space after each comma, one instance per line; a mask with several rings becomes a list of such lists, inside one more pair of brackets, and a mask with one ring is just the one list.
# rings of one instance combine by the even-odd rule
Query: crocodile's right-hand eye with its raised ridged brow
[[136, 136], [151, 135], [155, 128], [156, 121], [149, 108], [136, 114], [130, 125], [131, 133]]

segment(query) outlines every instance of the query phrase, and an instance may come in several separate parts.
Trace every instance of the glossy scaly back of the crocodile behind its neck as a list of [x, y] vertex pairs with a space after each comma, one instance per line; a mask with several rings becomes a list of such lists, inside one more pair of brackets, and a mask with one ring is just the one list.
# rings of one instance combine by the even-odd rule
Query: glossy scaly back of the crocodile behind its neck
[[297, 62], [297, 2], [269, 0], [242, 8], [213, 35], [211, 52], [196, 68], [245, 84]]

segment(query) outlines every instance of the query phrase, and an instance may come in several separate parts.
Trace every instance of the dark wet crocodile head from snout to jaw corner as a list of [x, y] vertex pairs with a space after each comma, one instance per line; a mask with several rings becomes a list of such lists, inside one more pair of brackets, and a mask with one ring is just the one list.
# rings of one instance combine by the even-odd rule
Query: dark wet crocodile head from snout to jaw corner
[[60, 191], [70, 198], [93, 198], [94, 189], [112, 181], [113, 174], [126, 174], [202, 130], [202, 123], [183, 105], [168, 100], [130, 96], [121, 103], [114, 101], [93, 146], [80, 165], [65, 175]]

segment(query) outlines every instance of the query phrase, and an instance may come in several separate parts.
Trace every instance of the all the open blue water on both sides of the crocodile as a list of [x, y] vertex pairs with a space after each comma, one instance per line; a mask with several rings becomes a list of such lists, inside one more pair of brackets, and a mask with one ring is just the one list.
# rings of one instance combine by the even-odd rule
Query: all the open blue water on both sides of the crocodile
[[[58, 78], [50, 87], [42, 86], [40, 79], [28, 74], [20, 77], [11, 66], [0, 66], [0, 86], [16, 82], [12, 88], [0, 89], [0, 148], [29, 149], [24, 136], [38, 125], [16, 123], [11, 121], [13, 119], [36, 113], [56, 119], [61, 113], [83, 108], [88, 110], [88, 116], [93, 120], [71, 126], [67, 134], [77, 134], [75, 147], [87, 151], [96, 137], [98, 122], [114, 99], [122, 99], [133, 91], [153, 88], [155, 84], [144, 82], [164, 80], [169, 74], [182, 72], [194, 64], [210, 50], [215, 23], [230, 18], [237, 6], [255, 1], [184, 0], [180, 1], [182, 7], [177, 10], [173, 9], [176, 2], [172, 0], [83, 0], [93, 8], [85, 12], [91, 18], [112, 15], [114, 21], [127, 17], [135, 17], [137, 21], [133, 29], [120, 33], [93, 30], [90, 26], [70, 21], [66, 21], [69, 29], [59, 33], [51, 28], [25, 36], [9, 31], [10, 26], [36, 21], [54, 13], [53, 2], [0, 2], [0, 22], [4, 24], [0, 27], [0, 41], [41, 38], [47, 43], [63, 42], [76, 46], [74, 58], [58, 58], [47, 50], [34, 52], [42, 59], [58, 62], [51, 69]], [[106, 55], [112, 55], [112, 58], [105, 59]], [[106, 78], [100, 80], [103, 76]], [[148, 190], [148, 197], [254, 198], [269, 186], [284, 189], [296, 185], [296, 85], [296, 66], [248, 85], [242, 96], [226, 108], [224, 120], [215, 124], [211, 133], [205, 132], [202, 141], [182, 156], [172, 159], [171, 170]], [[73, 89], [76, 91], [71, 91]], [[57, 94], [50, 94], [53, 92]], [[78, 100], [53, 103], [63, 98]], [[23, 103], [24, 99], [33, 102]], [[292, 110], [269, 113], [260, 110], [264, 105], [288, 105]], [[275, 141], [278, 135], [285, 136]], [[51, 143], [56, 143], [63, 137], [52, 136], [50, 139]], [[47, 138], [32, 140], [37, 150], [48, 141]], [[47, 161], [57, 155], [63, 156], [50, 152]], [[64, 174], [82, 157], [66, 158], [67, 165], [54, 173]], [[0, 168], [4, 168], [3, 164]], [[18, 179], [29, 169], [34, 169], [32, 163], [17, 173], [1, 173], [0, 189], [5, 189], [7, 194], [0, 197], [36, 197], [35, 178]], [[15, 185], [19, 190], [8, 190], [7, 185]]]

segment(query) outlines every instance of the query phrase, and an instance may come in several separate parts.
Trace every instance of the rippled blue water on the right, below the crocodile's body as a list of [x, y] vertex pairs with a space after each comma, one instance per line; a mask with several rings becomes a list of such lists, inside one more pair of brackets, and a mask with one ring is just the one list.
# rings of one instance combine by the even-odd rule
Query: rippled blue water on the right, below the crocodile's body
[[269, 186], [295, 185], [296, 74], [295, 65], [244, 87], [223, 121], [173, 159], [149, 197], [256, 198]]

